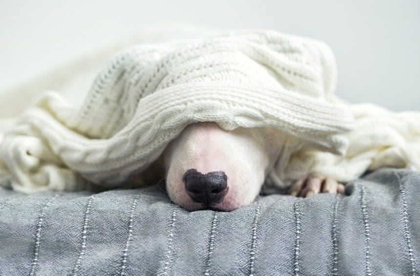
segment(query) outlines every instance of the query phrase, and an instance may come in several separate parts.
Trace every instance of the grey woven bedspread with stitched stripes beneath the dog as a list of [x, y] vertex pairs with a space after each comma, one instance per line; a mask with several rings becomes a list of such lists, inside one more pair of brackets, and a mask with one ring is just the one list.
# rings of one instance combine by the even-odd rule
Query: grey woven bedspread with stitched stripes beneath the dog
[[156, 187], [0, 190], [0, 275], [419, 275], [419, 174], [347, 192], [190, 213]]

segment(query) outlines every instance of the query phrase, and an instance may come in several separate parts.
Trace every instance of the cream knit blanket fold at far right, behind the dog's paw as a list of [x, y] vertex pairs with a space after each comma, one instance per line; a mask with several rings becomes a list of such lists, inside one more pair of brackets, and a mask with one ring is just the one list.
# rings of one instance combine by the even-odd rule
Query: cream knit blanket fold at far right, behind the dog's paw
[[349, 148], [337, 156], [320, 151], [301, 151], [284, 168], [284, 175], [299, 178], [302, 172], [318, 172], [343, 182], [367, 170], [383, 167], [420, 171], [420, 113], [393, 113], [373, 104], [351, 106], [354, 130]]

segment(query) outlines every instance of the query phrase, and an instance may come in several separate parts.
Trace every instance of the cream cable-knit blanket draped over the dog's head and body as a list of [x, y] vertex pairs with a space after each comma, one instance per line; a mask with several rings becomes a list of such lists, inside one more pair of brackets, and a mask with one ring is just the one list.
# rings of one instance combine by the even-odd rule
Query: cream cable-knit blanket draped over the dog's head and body
[[[420, 170], [420, 113], [337, 99], [335, 59], [320, 41], [261, 30], [158, 40], [118, 53], [87, 95], [68, 86], [83, 104], [49, 91], [3, 119], [0, 183], [23, 192], [117, 186], [197, 121], [276, 128], [287, 141], [270, 174], [279, 186], [310, 172], [348, 181], [384, 166]], [[63, 76], [83, 79], [82, 64]]]

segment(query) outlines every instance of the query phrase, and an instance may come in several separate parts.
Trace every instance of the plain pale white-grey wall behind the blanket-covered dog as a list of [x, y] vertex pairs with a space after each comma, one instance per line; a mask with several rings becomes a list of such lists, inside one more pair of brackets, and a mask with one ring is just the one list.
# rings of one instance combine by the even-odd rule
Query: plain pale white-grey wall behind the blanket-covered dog
[[322, 39], [336, 53], [342, 98], [420, 110], [419, 0], [0, 0], [0, 92], [174, 20]]

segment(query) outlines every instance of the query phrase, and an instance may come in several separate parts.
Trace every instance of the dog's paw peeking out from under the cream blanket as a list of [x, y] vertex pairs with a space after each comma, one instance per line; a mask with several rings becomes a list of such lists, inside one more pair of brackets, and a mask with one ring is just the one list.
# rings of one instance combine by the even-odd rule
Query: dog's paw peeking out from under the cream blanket
[[311, 174], [294, 181], [288, 194], [294, 197], [311, 197], [319, 193], [343, 194], [344, 185], [335, 179], [320, 174]]

